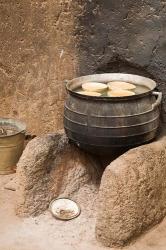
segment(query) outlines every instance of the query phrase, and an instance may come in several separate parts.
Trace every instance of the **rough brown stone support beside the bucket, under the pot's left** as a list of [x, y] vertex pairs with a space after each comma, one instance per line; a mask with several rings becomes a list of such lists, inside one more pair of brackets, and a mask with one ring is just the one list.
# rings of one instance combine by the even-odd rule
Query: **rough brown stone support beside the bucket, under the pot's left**
[[63, 132], [36, 137], [18, 163], [16, 213], [39, 215], [52, 199], [72, 198], [84, 185], [99, 185], [100, 176], [97, 161], [69, 144]]

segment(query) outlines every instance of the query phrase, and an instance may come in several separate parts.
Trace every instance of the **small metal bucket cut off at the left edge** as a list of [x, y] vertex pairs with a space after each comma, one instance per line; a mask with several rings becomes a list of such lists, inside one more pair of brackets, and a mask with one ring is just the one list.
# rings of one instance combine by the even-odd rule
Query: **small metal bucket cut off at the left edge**
[[0, 130], [11, 128], [14, 133], [0, 135], [0, 175], [12, 174], [24, 149], [26, 125], [18, 120], [0, 118]]

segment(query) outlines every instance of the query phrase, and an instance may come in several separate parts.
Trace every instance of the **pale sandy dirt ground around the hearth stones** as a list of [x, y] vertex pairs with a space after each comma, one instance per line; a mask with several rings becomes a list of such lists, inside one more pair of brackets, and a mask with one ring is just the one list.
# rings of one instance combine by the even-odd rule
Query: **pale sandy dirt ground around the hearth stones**
[[[81, 215], [68, 222], [54, 219], [49, 211], [37, 218], [15, 215], [15, 192], [4, 189], [13, 178], [0, 176], [0, 250], [108, 250], [95, 240], [97, 190], [86, 186], [75, 196]], [[125, 250], [165, 250], [166, 219]], [[113, 250], [113, 249], [111, 249]]]

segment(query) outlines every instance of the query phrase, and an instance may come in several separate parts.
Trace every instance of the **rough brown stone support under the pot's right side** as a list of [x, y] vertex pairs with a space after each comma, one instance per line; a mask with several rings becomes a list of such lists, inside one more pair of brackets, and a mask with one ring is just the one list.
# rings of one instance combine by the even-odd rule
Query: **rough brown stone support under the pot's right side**
[[105, 170], [100, 185], [96, 237], [121, 247], [166, 215], [166, 137], [129, 150]]

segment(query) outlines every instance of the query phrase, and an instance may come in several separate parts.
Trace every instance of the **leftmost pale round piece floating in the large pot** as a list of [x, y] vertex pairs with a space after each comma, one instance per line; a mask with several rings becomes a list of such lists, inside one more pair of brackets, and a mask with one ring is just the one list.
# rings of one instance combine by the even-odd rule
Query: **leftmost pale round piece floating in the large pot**
[[107, 90], [108, 86], [100, 82], [86, 82], [82, 84], [82, 88], [85, 91], [103, 92]]

